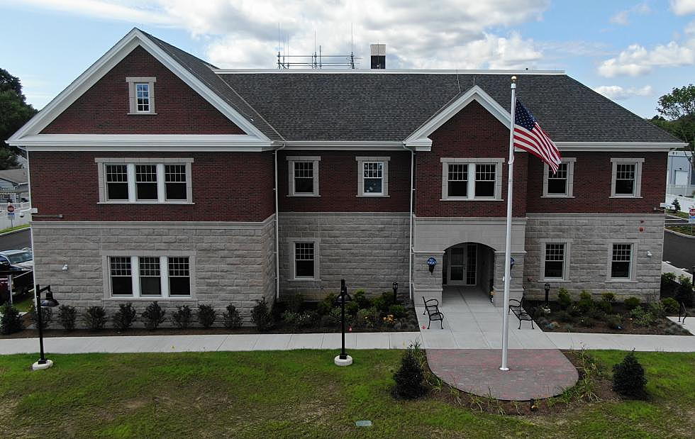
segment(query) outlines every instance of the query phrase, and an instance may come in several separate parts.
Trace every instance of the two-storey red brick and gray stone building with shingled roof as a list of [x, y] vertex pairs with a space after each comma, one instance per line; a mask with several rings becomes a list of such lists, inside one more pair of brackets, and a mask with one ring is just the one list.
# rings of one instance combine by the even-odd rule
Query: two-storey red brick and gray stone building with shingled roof
[[501, 290], [511, 74], [563, 156], [552, 174], [516, 152], [513, 296], [657, 294], [680, 144], [566, 74], [221, 70], [138, 29], [9, 140], [36, 282], [75, 306], [246, 315], [340, 278]]

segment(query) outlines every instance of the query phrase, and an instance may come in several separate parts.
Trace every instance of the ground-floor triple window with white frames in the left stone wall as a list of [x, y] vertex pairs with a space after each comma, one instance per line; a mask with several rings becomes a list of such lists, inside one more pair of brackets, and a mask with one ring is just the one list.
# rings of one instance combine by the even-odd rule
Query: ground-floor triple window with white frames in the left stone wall
[[109, 278], [105, 284], [110, 296], [191, 297], [191, 257], [139, 253], [140, 256], [104, 256]]

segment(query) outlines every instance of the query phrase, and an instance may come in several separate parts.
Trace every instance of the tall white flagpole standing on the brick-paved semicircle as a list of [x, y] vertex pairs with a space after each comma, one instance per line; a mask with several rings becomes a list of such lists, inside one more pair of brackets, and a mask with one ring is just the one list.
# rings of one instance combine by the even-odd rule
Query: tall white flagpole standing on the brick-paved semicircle
[[504, 303], [502, 304], [502, 365], [507, 371], [507, 346], [509, 341], [509, 286], [511, 284], [511, 196], [514, 170], [514, 117], [516, 113], [516, 76], [511, 77], [511, 121], [509, 123], [509, 173], [507, 176], [507, 224], [504, 241]]

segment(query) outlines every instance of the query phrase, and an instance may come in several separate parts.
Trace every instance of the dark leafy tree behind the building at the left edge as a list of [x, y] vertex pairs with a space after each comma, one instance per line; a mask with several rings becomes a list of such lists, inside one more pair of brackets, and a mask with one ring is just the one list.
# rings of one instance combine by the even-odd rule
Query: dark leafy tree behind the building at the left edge
[[15, 155], [18, 151], [7, 145], [5, 140], [36, 113], [33, 106], [26, 103], [19, 78], [0, 69], [0, 169], [17, 165], [16, 159], [8, 160], [6, 156]]

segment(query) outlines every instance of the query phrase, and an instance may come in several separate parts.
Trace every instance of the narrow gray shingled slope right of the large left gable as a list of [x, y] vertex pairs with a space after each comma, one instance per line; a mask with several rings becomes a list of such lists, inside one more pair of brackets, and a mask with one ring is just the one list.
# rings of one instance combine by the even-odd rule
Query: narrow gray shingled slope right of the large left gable
[[[143, 32], [140, 30], [140, 32]], [[212, 71], [215, 66], [211, 65], [198, 57], [194, 57], [188, 52], [176, 48], [166, 41], [143, 32], [152, 40], [152, 43], [158, 45], [162, 50], [167, 52], [167, 55], [174, 58], [186, 70], [191, 72], [203, 84], [205, 84], [214, 93], [224, 99], [233, 109], [238, 111], [246, 120], [250, 121], [258, 130], [265, 134], [271, 140], [282, 140], [282, 136], [270, 126], [262, 116], [253, 109], [242, 96], [240, 96], [230, 85], [224, 82], [216, 73]]]

